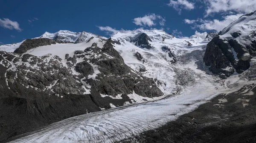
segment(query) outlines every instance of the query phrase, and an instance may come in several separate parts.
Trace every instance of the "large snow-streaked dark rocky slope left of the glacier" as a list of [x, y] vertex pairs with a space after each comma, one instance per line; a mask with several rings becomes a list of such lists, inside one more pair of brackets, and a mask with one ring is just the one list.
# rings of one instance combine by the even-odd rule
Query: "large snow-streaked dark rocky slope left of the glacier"
[[[93, 44], [66, 54], [65, 59], [0, 51], [0, 61], [0, 141], [65, 118], [109, 109], [110, 103], [116, 107], [132, 103], [128, 94], [133, 92], [150, 98], [163, 95], [153, 79], [124, 63], [111, 39], [103, 48]], [[112, 98], [118, 94], [122, 99]]]

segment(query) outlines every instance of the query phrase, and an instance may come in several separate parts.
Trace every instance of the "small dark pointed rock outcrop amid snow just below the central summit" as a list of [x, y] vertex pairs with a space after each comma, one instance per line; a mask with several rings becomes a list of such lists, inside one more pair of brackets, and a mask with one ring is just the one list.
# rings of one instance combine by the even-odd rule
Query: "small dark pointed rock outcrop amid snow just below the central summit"
[[141, 48], [152, 49], [152, 46], [149, 44], [148, 41], [152, 42], [149, 36], [145, 33], [139, 34], [137, 38], [131, 40], [131, 42], [135, 42], [135, 45], [138, 45]]

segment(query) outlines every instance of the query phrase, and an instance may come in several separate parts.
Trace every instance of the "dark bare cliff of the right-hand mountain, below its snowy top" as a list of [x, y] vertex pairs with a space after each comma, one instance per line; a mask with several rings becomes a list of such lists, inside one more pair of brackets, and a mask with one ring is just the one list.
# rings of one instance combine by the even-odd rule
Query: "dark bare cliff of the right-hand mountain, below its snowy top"
[[250, 49], [240, 45], [236, 40], [227, 41], [216, 36], [207, 44], [204, 62], [212, 73], [226, 78], [235, 70], [237, 73], [247, 70], [250, 67], [251, 58]]

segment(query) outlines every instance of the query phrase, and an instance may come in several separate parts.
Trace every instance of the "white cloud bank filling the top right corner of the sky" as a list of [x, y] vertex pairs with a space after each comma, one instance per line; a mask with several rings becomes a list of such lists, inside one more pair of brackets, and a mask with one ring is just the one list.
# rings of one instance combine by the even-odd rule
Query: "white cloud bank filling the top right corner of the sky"
[[256, 0], [205, 0], [206, 14], [236, 11], [250, 13], [256, 10]]

